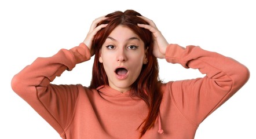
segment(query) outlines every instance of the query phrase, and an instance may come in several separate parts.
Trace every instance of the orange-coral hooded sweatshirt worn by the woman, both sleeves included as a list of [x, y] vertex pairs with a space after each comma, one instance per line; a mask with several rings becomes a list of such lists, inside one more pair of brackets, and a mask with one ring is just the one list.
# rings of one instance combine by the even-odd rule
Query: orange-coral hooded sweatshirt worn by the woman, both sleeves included
[[[37, 58], [12, 79], [12, 89], [27, 101], [61, 138], [138, 138], [148, 114], [144, 101], [104, 85], [50, 84], [66, 69], [90, 59], [84, 43], [61, 49], [52, 57]], [[248, 80], [248, 69], [221, 54], [199, 46], [169, 45], [166, 61], [199, 69], [203, 78], [162, 84], [164, 92], [158, 120], [142, 138], [194, 138], [199, 124], [235, 94]], [[164, 134], [158, 130], [163, 129]]]

